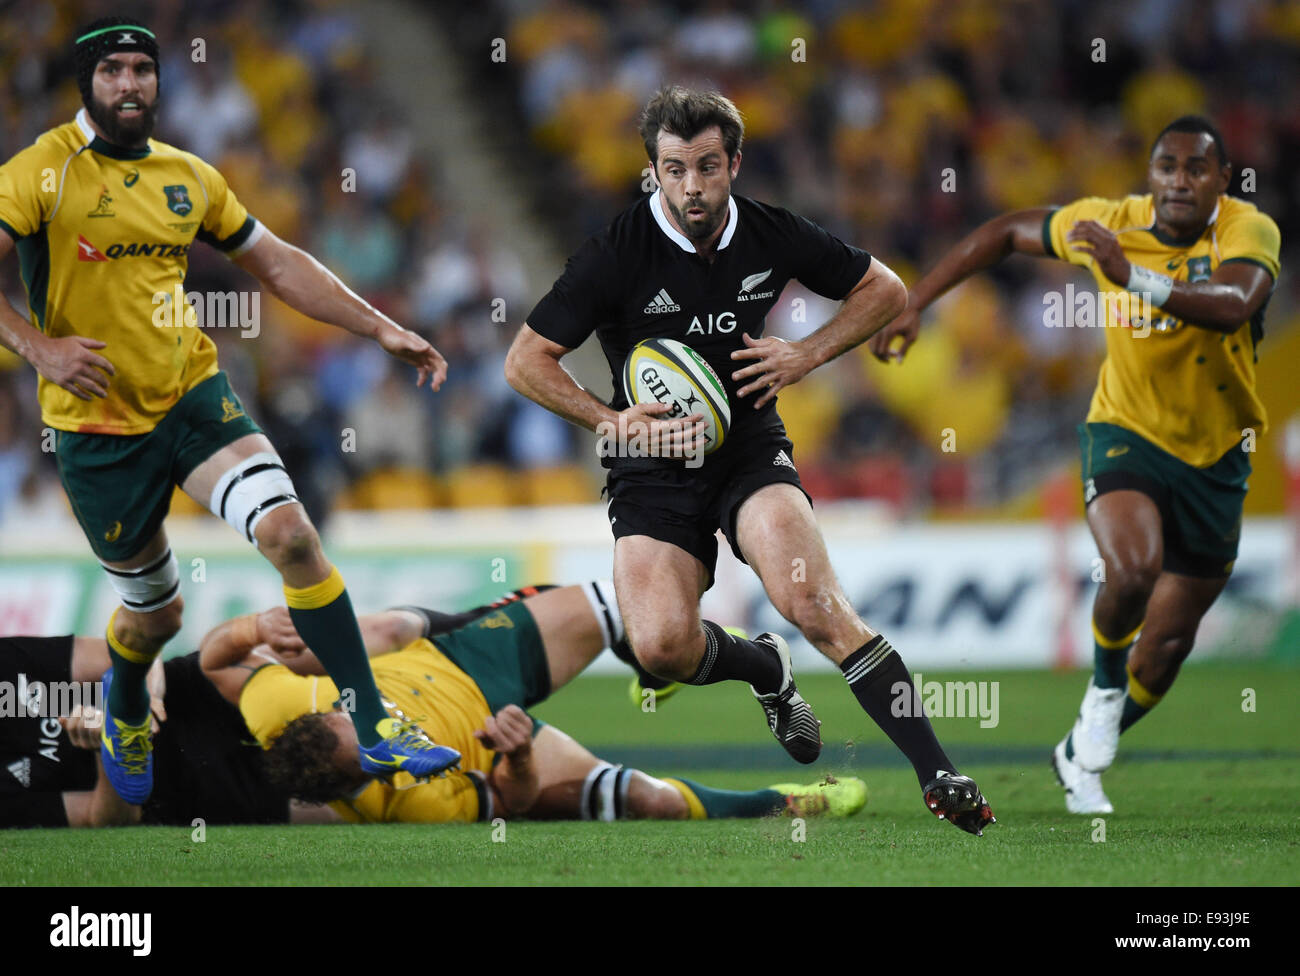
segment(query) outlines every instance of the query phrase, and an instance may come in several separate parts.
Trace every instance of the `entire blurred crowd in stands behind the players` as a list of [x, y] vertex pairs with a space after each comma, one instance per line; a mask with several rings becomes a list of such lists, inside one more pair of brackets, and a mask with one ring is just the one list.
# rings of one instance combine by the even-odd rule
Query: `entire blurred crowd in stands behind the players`
[[[1152, 135], [1174, 116], [1205, 112], [1238, 168], [1234, 191], [1282, 226], [1283, 278], [1269, 330], [1283, 329], [1300, 305], [1287, 276], [1300, 233], [1295, 4], [410, 6], [411, 17], [455, 36], [474, 83], [488, 79], [514, 105], [515, 118], [497, 123], [519, 130], [525, 165], [541, 179], [503, 192], [537, 196], [558, 253], [644, 192], [636, 116], [664, 82], [718, 86], [741, 108], [737, 192], [818, 220], [909, 282], [998, 212], [1143, 192]], [[373, 343], [266, 295], [256, 340], [211, 330], [312, 516], [322, 521], [341, 506], [594, 500], [589, 438], [526, 408], [502, 377], [514, 330], [549, 282], [533, 282], [530, 292], [508, 233], [448, 199], [413, 151], [411, 120], [380, 83], [377, 52], [361, 43], [364, 4], [200, 0], [139, 9], [164, 51], [156, 138], [214, 164], [254, 216], [452, 364], [443, 392], [430, 396]], [[6, 8], [0, 156], [75, 114], [73, 31], [113, 12], [73, 0]], [[506, 39], [504, 64], [489, 61], [495, 36]], [[1253, 170], [1249, 192], [1242, 168]], [[906, 368], [852, 353], [783, 392], [814, 496], [884, 498], [922, 512], [987, 507], [1069, 457], [1102, 348], [1098, 330], [1043, 324], [1044, 294], [1070, 281], [1083, 279], [1063, 264], [1009, 263], [936, 307]], [[25, 311], [16, 260], [0, 268], [0, 283]], [[255, 287], [214, 251], [191, 252], [187, 291]], [[494, 299], [504, 299], [510, 322], [493, 321]], [[797, 338], [832, 311], [792, 285], [768, 327]], [[52, 455], [40, 450], [35, 376], [6, 355], [0, 350], [0, 524], [64, 504]]]

